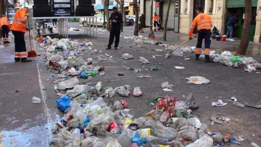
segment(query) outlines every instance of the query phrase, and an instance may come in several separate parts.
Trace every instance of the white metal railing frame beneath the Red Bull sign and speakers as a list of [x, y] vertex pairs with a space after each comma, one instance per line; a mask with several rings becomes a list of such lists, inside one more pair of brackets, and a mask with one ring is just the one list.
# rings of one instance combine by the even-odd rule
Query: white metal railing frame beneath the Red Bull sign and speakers
[[[63, 37], [68, 38], [68, 24], [69, 24], [69, 18], [84, 18], [84, 22], [86, 20], [87, 27], [84, 25], [84, 34], [85, 35], [92, 35], [94, 37], [94, 29], [95, 29], [95, 36], [97, 37], [97, 16], [54, 16], [54, 17], [32, 17], [32, 23], [34, 25], [34, 20], [36, 19], [57, 19], [57, 26], [58, 26], [58, 34], [62, 35]], [[89, 23], [88, 23], [89, 19]], [[94, 23], [95, 19], [95, 23]], [[92, 20], [92, 23], [91, 23]], [[89, 34], [88, 34], [88, 28]], [[91, 31], [92, 30], [92, 31]], [[33, 26], [33, 31], [35, 32], [35, 28]], [[85, 33], [86, 32], [86, 33]]]

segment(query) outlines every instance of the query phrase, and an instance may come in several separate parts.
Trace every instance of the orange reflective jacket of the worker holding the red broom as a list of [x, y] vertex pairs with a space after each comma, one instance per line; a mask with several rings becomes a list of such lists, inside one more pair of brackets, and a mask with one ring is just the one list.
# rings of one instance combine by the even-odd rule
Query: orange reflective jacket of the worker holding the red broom
[[15, 13], [11, 30], [26, 33], [26, 20], [27, 20], [26, 10], [20, 8]]

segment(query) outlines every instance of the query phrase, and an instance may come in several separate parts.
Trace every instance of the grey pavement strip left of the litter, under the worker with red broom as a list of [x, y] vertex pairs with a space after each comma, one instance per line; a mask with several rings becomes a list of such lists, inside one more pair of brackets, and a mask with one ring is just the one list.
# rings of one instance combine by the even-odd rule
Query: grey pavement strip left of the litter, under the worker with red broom
[[[28, 50], [30, 44], [27, 35]], [[49, 115], [49, 111], [55, 104], [51, 102], [52, 105], [49, 105], [48, 100], [42, 97], [42, 91], [47, 88], [40, 88], [39, 81], [44, 80], [44, 72], [39, 76], [38, 70], [42, 71], [43, 64], [38, 64], [41, 60], [15, 62], [12, 36], [9, 37], [11, 43], [0, 49], [0, 146], [48, 146], [48, 123], [54, 118]], [[46, 71], [46, 68], [44, 69]], [[48, 87], [44, 82], [42, 85]], [[42, 98], [41, 103], [33, 104], [33, 96]], [[50, 96], [55, 98], [53, 87], [46, 95]], [[56, 110], [56, 107], [53, 108]]]

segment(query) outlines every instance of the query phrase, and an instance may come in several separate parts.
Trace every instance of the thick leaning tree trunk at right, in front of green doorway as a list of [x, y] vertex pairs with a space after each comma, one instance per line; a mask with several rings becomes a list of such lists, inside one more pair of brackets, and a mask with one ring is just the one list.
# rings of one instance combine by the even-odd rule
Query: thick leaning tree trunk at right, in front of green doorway
[[237, 49], [238, 54], [246, 54], [246, 49], [249, 44], [250, 26], [252, 20], [252, 0], [245, 0], [245, 19], [243, 26], [243, 35]]

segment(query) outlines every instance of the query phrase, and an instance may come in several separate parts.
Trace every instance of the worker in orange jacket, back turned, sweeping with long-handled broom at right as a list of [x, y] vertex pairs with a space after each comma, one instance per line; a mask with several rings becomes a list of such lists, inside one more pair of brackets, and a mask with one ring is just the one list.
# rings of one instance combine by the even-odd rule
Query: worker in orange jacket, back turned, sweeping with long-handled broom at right
[[196, 46], [196, 60], [198, 60], [200, 54], [201, 54], [201, 47], [202, 47], [202, 41], [205, 40], [205, 62], [210, 62], [209, 60], [209, 53], [210, 53], [210, 44], [211, 44], [211, 28], [212, 28], [212, 21], [208, 14], [203, 13], [202, 7], [196, 8], [197, 16], [193, 20], [193, 23], [190, 27], [189, 31], [189, 37], [192, 39], [192, 33], [195, 29], [195, 26], [197, 26], [198, 29], [198, 43]]

